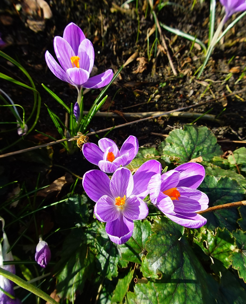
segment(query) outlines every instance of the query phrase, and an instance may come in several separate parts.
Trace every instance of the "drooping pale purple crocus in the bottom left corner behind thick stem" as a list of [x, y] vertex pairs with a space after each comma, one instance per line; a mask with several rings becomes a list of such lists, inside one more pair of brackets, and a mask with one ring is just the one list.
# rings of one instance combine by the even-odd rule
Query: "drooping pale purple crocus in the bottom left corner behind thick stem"
[[[2, 219], [1, 219], [2, 220]], [[3, 261], [13, 261], [13, 256], [11, 251], [9, 251], [9, 242], [6, 236], [6, 233], [3, 232], [3, 246], [0, 244], [0, 267], [12, 272], [13, 274], [16, 273], [15, 265], [4, 265]], [[7, 253], [9, 251], [9, 253]], [[5, 291], [8, 292], [10, 295], [14, 297], [14, 282], [10, 281], [9, 279], [5, 278], [4, 276], [0, 275], [0, 287]], [[21, 304], [21, 301], [17, 298], [10, 298], [0, 289], [0, 303], [1, 304]]]

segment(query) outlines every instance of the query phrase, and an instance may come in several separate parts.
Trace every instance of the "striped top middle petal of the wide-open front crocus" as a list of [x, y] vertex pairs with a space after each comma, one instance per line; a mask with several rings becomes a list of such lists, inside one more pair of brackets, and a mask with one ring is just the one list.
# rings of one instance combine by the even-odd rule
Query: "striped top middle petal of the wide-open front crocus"
[[118, 196], [123, 197], [124, 195], [129, 197], [133, 190], [131, 171], [125, 167], [118, 168], [110, 180], [110, 190], [115, 198]]

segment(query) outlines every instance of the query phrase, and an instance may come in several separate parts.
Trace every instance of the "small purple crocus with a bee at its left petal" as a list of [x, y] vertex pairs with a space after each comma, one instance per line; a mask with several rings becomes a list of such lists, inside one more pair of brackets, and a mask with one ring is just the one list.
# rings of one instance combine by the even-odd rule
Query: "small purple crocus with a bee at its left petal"
[[[98, 147], [99, 146], [99, 147]], [[113, 173], [117, 168], [130, 164], [137, 155], [138, 140], [130, 135], [123, 143], [120, 151], [116, 143], [109, 138], [102, 138], [95, 143], [83, 145], [85, 158], [106, 173]]]

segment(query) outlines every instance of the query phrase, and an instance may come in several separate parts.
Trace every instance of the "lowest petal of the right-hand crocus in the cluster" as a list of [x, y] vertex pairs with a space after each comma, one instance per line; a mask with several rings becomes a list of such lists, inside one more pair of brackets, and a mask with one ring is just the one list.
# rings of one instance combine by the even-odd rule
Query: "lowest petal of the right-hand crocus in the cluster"
[[175, 215], [165, 213], [165, 216], [187, 228], [200, 228], [207, 222], [205, 217], [197, 213], [176, 213]]

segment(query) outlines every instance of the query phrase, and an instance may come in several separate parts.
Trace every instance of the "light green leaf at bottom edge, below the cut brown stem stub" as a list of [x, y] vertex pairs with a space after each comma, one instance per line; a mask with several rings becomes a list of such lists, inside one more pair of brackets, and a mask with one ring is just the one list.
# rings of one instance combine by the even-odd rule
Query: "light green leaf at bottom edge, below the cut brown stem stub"
[[[127, 304], [158, 304], [157, 293], [154, 289], [154, 283], [136, 284], [134, 286], [134, 293], [126, 293]], [[164, 304], [164, 303], [163, 303]]]

